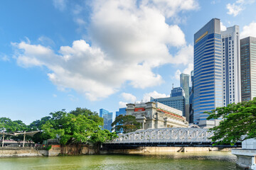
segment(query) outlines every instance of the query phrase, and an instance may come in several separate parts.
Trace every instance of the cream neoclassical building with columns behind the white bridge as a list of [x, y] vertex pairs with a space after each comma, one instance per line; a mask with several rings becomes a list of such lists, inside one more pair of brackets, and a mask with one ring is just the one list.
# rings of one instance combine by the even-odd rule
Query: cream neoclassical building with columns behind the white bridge
[[187, 128], [188, 122], [181, 111], [159, 102], [129, 103], [127, 115], [136, 117], [142, 129]]

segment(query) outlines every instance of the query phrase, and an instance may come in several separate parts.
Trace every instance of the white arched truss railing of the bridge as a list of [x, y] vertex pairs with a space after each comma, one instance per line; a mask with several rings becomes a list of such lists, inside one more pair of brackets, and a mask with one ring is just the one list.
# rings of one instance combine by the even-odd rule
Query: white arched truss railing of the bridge
[[212, 142], [209, 137], [213, 136], [213, 132], [200, 128], [161, 128], [147, 129], [119, 134], [118, 138], [107, 142], [109, 144], [122, 143], [154, 143], [154, 142]]

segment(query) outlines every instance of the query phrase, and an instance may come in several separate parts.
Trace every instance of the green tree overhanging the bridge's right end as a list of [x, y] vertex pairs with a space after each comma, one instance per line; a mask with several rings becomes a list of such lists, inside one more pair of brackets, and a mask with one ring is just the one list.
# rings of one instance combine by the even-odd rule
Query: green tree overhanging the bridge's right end
[[210, 129], [214, 132], [214, 136], [210, 138], [217, 144], [234, 145], [238, 141], [256, 137], [256, 98], [228, 104], [227, 107], [216, 108], [208, 114], [208, 120], [223, 119], [220, 125]]

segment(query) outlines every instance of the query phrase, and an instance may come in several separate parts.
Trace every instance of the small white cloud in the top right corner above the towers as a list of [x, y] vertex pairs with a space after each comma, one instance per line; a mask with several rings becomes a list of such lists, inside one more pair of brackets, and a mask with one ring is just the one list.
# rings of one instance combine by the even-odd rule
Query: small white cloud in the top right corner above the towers
[[227, 4], [228, 14], [233, 16], [238, 16], [238, 14], [245, 9], [247, 4], [254, 3], [255, 0], [237, 0], [233, 4]]

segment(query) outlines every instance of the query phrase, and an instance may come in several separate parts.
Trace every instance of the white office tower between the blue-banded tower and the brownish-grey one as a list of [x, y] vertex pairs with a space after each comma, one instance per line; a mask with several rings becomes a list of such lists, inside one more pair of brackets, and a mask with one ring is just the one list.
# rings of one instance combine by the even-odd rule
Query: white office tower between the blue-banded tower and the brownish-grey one
[[241, 101], [239, 26], [221, 31], [223, 45], [223, 106]]

